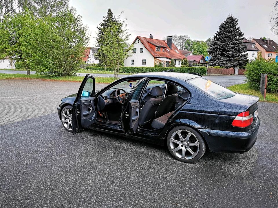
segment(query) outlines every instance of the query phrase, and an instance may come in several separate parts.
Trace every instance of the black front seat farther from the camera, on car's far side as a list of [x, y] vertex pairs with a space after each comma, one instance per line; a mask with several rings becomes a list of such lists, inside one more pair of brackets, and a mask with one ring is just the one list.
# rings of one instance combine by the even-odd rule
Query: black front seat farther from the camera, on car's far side
[[163, 116], [164, 114], [167, 114], [171, 110], [173, 110], [171, 108], [173, 107], [178, 97], [177, 92], [178, 92], [178, 87], [175, 84], [169, 85], [168, 90], [166, 92], [167, 96], [164, 98], [162, 103], [156, 109], [157, 110], [156, 118]]

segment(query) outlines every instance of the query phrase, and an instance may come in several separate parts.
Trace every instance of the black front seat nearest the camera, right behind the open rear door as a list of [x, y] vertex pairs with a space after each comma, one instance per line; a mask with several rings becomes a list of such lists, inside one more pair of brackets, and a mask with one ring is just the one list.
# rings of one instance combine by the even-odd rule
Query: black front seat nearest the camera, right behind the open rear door
[[160, 87], [156, 86], [151, 89], [151, 95], [156, 96], [155, 98], [151, 98], [147, 101], [147, 103], [140, 110], [139, 115], [139, 125], [145, 125], [151, 121], [153, 118], [158, 105], [162, 101], [162, 90]]

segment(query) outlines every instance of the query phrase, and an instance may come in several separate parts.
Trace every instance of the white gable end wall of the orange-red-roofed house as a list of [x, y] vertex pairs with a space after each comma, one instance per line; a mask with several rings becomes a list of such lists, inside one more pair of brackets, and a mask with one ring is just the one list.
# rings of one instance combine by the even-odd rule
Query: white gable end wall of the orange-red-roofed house
[[[136, 53], [133, 53], [130, 57], [125, 59], [124, 66], [154, 66], [154, 57], [151, 53], [145, 48], [138, 38], [134, 43], [133, 48], [136, 48]], [[143, 48], [143, 53], [140, 53], [140, 48]], [[142, 64], [142, 60], [146, 60], [146, 64]], [[134, 64], [130, 64], [130, 60], [134, 60]]]

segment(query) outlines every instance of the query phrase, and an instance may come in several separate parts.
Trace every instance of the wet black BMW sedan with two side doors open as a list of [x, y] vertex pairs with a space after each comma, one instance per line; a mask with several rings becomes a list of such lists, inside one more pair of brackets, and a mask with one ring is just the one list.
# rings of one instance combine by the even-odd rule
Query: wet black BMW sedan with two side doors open
[[167, 145], [173, 157], [192, 163], [206, 150], [250, 150], [260, 125], [258, 100], [194, 74], [134, 74], [98, 92], [86, 75], [78, 93], [61, 100], [58, 116], [73, 134], [89, 128]]

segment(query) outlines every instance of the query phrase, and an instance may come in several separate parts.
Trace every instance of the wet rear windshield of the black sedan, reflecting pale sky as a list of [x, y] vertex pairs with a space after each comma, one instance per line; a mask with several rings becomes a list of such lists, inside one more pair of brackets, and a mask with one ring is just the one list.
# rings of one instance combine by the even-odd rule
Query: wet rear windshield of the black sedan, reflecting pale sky
[[224, 88], [210, 80], [206, 80], [201, 77], [190, 79], [188, 83], [217, 100], [227, 99], [236, 95], [231, 90], [228, 90], [227, 88]]

